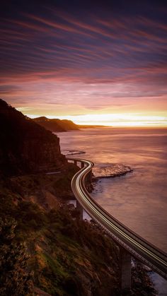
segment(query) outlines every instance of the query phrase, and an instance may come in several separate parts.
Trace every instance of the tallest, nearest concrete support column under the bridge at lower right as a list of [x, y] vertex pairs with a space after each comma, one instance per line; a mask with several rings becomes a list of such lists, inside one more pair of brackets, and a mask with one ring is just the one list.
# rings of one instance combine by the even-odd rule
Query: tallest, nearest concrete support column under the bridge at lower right
[[121, 289], [131, 288], [131, 255], [120, 247], [120, 285]]

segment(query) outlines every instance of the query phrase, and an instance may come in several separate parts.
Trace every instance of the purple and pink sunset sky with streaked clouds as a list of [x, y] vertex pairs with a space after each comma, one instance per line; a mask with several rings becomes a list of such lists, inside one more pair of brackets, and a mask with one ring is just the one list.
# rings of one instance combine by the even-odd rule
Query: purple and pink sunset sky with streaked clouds
[[2, 1], [0, 97], [29, 117], [167, 126], [166, 1]]

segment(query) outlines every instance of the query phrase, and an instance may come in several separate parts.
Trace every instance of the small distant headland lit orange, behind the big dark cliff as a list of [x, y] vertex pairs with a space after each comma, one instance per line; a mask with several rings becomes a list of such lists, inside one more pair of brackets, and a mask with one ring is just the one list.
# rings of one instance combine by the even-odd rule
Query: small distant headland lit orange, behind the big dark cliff
[[34, 122], [40, 124], [50, 131], [77, 131], [79, 127], [71, 120], [67, 119], [48, 119], [47, 117], [38, 117], [33, 119]]

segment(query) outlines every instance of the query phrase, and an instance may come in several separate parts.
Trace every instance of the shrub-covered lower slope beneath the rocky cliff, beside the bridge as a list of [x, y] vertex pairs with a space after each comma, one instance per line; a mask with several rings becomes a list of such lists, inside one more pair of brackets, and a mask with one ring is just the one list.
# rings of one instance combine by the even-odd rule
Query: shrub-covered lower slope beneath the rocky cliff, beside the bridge
[[[69, 164], [60, 174], [0, 179], [0, 295], [35, 296], [35, 290], [41, 296], [155, 296], [138, 262], [132, 291], [120, 291], [119, 248], [96, 223], [79, 220], [74, 206], [64, 202], [76, 170]], [[1, 293], [6, 288], [9, 292]], [[21, 288], [22, 294], [17, 293]], [[33, 290], [25, 293], [28, 288]]]

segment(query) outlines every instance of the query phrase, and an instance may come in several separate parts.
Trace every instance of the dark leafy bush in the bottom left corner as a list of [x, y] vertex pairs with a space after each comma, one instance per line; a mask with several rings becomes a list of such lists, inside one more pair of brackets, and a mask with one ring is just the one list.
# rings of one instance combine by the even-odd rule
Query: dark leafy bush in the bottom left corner
[[14, 242], [16, 220], [0, 218], [0, 295], [33, 295], [33, 274], [28, 271], [24, 243]]

